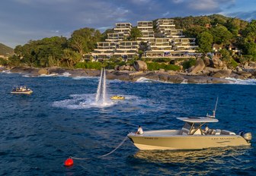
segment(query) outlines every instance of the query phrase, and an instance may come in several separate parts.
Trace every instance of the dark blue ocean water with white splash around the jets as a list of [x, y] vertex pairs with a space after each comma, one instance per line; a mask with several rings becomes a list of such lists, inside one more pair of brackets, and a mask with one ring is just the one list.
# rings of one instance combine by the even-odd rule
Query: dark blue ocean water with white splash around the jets
[[[233, 84], [172, 84], [140, 79], [107, 80], [107, 96], [124, 101], [95, 105], [98, 77], [29, 77], [0, 73], [0, 175], [255, 175], [256, 81]], [[25, 84], [34, 93], [12, 95]], [[250, 147], [197, 151], [139, 151], [126, 140], [143, 130], [179, 129], [177, 117], [211, 113], [210, 127], [251, 131]], [[69, 157], [72, 167], [63, 162]]]

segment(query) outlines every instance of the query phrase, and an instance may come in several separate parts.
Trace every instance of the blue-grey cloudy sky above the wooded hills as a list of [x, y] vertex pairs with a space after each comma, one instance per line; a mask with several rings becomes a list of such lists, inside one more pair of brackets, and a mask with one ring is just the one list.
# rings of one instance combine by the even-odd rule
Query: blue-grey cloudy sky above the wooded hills
[[70, 37], [74, 30], [114, 28], [117, 22], [223, 14], [256, 20], [256, 0], [1, 0], [0, 43]]

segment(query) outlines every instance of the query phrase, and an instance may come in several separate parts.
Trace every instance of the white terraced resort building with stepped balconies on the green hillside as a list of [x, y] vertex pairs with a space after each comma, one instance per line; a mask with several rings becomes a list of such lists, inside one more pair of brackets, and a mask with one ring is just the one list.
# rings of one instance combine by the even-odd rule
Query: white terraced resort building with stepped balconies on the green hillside
[[155, 21], [138, 21], [137, 28], [142, 36], [136, 41], [128, 41], [133, 26], [130, 23], [117, 23], [114, 33], [107, 33], [105, 42], [98, 42], [97, 49], [91, 56], [97, 59], [111, 57], [138, 57], [140, 44], [146, 43], [147, 49], [143, 57], [190, 57], [198, 46], [195, 38], [186, 38], [183, 30], [176, 29], [173, 19], [158, 19]]

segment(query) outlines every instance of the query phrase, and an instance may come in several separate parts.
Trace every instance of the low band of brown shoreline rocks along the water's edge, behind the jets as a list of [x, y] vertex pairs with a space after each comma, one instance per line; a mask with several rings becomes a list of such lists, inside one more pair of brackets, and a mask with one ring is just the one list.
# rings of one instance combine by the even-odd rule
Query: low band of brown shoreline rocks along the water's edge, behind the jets
[[[10, 71], [11, 73], [26, 74], [30, 77], [41, 75], [66, 75], [69, 77], [100, 77], [101, 71], [90, 69], [66, 69], [66, 68], [30, 68], [14, 67], [0, 68], [0, 71]], [[108, 80], [136, 81], [142, 77], [166, 83], [232, 83], [220, 77], [209, 77], [202, 75], [187, 75], [174, 71], [115, 71], [107, 70]]]

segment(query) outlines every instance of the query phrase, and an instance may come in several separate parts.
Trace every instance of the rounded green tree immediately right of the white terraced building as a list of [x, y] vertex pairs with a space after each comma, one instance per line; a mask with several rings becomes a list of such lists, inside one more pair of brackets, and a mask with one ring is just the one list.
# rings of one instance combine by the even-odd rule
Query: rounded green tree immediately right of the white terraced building
[[199, 52], [212, 52], [213, 36], [208, 32], [200, 33], [198, 36]]

